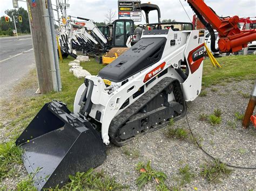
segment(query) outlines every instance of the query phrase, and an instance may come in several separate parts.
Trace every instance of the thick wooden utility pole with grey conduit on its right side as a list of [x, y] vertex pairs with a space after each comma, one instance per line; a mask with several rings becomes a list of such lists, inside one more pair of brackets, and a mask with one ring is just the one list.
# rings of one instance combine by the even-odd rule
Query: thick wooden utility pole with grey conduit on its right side
[[[58, 60], [56, 60], [56, 37], [52, 37], [53, 16], [51, 15], [51, 0], [27, 1], [33, 49], [36, 59], [38, 86], [42, 94], [50, 91], [60, 91], [60, 76], [57, 75]], [[52, 22], [51, 22], [52, 20]], [[59, 80], [58, 80], [59, 78]], [[58, 83], [60, 82], [60, 83]], [[58, 86], [60, 84], [60, 86]]]

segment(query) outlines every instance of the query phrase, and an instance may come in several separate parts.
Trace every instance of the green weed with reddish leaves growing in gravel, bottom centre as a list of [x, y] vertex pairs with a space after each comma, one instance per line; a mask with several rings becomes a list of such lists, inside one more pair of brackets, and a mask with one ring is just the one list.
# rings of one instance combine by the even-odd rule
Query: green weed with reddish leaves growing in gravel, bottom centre
[[147, 161], [147, 165], [145, 165], [143, 162], [139, 162], [137, 164], [136, 170], [140, 173], [140, 176], [137, 178], [136, 181], [139, 190], [142, 189], [142, 187], [146, 185], [147, 182], [152, 180], [157, 183], [156, 189], [160, 190], [161, 188], [163, 188], [164, 190], [167, 190], [167, 187], [164, 183], [167, 175], [163, 172], [158, 172], [152, 169], [150, 160]]

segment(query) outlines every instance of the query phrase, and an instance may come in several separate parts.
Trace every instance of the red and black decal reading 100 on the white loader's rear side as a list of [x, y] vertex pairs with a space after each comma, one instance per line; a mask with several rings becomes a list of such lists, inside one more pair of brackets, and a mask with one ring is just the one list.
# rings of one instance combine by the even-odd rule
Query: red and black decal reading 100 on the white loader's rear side
[[201, 65], [201, 62], [204, 60], [204, 44], [193, 49], [188, 54], [188, 66], [190, 66], [191, 74], [196, 72], [196, 70]]

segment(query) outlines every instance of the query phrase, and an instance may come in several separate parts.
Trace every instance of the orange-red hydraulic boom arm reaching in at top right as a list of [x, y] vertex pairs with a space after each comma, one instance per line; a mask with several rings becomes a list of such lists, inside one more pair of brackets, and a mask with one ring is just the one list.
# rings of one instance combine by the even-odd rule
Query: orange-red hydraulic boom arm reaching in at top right
[[[187, 0], [200, 21], [211, 33], [211, 49], [213, 52], [237, 52], [256, 40], [256, 30], [241, 31], [238, 28], [239, 17], [219, 17], [203, 0]], [[219, 48], [215, 48], [214, 31], [219, 33]]]

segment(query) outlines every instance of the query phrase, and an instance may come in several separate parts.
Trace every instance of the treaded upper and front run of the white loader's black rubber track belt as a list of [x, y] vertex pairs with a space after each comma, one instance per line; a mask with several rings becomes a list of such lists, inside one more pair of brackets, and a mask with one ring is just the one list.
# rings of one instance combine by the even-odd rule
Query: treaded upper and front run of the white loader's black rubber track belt
[[145, 104], [150, 102], [157, 94], [163, 91], [174, 80], [176, 79], [173, 79], [172, 77], [165, 77], [149, 91], [147, 91], [142, 97], [138, 98], [137, 101], [132, 103], [129, 107], [127, 107], [124, 111], [112, 119], [110, 123], [109, 135], [112, 138], [112, 142], [114, 144], [119, 145], [115, 141], [118, 128], [122, 126], [130, 117], [136, 114], [140, 109], [142, 109]]

